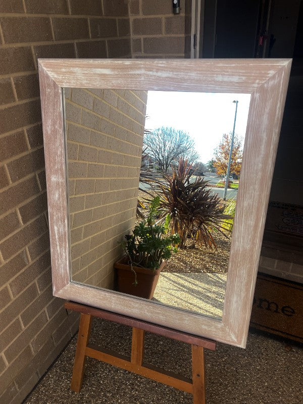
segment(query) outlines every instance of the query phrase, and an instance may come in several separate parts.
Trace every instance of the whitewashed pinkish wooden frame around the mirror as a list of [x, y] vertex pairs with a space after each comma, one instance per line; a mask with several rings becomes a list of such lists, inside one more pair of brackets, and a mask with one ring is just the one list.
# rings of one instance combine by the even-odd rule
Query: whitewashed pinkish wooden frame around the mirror
[[[245, 347], [290, 66], [288, 59], [40, 59], [54, 295]], [[63, 87], [250, 94], [222, 320], [71, 282]]]

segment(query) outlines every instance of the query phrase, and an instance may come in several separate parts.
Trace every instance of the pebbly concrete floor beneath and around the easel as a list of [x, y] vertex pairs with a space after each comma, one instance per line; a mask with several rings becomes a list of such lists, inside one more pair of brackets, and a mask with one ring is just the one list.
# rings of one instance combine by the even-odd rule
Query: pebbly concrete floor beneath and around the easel
[[[91, 343], [129, 355], [130, 327], [95, 319]], [[74, 338], [26, 404], [192, 404], [192, 396], [88, 358], [82, 390], [70, 390]], [[190, 377], [188, 344], [146, 333], [145, 362]], [[303, 348], [250, 332], [246, 349], [205, 351], [207, 404], [302, 404]]]

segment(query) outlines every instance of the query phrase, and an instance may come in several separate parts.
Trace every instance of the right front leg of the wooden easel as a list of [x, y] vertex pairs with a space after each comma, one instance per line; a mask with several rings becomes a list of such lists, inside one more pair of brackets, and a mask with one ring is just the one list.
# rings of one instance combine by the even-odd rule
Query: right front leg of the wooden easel
[[205, 404], [204, 351], [191, 345], [193, 404]]

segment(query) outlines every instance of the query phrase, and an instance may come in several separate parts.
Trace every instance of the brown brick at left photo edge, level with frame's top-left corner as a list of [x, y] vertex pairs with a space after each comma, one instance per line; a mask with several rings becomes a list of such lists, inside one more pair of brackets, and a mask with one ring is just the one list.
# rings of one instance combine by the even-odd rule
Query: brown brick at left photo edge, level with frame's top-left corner
[[35, 65], [29, 46], [0, 49], [0, 74], [32, 70], [35, 70]]

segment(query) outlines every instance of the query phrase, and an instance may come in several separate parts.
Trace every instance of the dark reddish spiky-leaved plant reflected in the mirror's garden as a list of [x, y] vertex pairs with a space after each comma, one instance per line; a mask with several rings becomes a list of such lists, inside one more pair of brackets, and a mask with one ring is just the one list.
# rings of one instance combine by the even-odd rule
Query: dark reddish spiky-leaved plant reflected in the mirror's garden
[[212, 194], [208, 181], [193, 177], [191, 165], [180, 158], [177, 168], [172, 167], [172, 175], [165, 174], [163, 180], [156, 180], [154, 191], [160, 196], [160, 220], [170, 215], [170, 230], [180, 235], [180, 248], [205, 244], [216, 248], [214, 233], [226, 235], [224, 221], [230, 219], [224, 213], [224, 205], [217, 194]]

